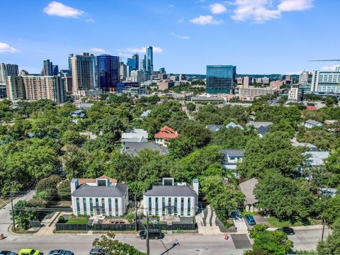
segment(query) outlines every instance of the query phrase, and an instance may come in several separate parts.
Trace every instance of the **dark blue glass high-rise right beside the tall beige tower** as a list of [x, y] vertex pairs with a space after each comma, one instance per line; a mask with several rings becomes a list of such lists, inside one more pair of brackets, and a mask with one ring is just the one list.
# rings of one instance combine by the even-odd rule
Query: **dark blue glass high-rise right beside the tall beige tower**
[[119, 57], [111, 55], [97, 56], [98, 88], [111, 91], [119, 82]]

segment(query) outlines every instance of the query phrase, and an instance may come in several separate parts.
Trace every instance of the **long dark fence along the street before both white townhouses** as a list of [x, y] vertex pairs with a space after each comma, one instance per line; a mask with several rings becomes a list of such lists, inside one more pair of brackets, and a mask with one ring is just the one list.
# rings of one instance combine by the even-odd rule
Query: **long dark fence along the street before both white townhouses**
[[[138, 229], [142, 230], [144, 227], [138, 225]], [[149, 229], [162, 229], [162, 230], [195, 230], [196, 223], [174, 223], [172, 225], [155, 224], [149, 225]], [[57, 223], [57, 231], [133, 231], [135, 224], [66, 224]]]

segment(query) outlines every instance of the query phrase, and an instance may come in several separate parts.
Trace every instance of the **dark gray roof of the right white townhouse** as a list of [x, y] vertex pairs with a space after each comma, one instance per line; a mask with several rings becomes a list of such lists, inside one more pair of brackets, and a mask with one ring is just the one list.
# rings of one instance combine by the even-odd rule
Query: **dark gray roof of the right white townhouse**
[[193, 190], [192, 186], [163, 186], [157, 185], [144, 193], [144, 196], [197, 196], [196, 191]]

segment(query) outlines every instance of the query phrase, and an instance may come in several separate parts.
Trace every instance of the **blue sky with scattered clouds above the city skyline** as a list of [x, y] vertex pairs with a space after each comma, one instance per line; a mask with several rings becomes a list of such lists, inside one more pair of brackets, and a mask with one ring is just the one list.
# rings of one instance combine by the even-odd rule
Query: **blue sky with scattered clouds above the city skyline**
[[154, 69], [239, 74], [329, 69], [340, 58], [338, 0], [1, 1], [0, 62], [38, 73], [67, 67], [69, 53], [128, 56], [153, 45]]

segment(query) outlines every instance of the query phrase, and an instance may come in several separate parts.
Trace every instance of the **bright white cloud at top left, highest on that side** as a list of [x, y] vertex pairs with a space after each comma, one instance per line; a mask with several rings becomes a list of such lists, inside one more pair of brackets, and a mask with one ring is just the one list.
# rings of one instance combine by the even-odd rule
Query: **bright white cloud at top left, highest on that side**
[[79, 18], [79, 16], [83, 16], [85, 14], [84, 11], [64, 5], [57, 1], [50, 2], [50, 4], [44, 8], [44, 12], [49, 16], [60, 16], [64, 18]]

